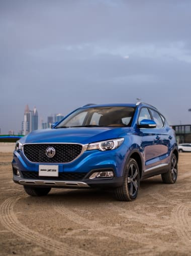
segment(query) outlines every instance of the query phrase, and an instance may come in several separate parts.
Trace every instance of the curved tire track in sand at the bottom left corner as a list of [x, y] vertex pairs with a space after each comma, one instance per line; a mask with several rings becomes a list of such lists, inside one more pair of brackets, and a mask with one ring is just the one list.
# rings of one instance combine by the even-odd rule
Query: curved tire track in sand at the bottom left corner
[[38, 244], [46, 250], [54, 252], [58, 255], [96, 255], [85, 250], [76, 248], [75, 246], [69, 246], [66, 243], [59, 242], [57, 240], [51, 239], [45, 235], [42, 235], [36, 231], [29, 229], [27, 226], [23, 225], [18, 219], [14, 212], [14, 206], [19, 199], [23, 196], [10, 197], [6, 199], [0, 207], [1, 223], [6, 229], [12, 231], [17, 236], [23, 239]]

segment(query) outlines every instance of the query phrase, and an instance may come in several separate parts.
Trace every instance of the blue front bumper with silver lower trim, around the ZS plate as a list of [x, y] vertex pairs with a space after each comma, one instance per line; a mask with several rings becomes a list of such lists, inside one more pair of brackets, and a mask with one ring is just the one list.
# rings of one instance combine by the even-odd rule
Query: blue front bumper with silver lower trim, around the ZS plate
[[[68, 164], [58, 165], [59, 174], [64, 173], [85, 173], [80, 179], [65, 179], [54, 177], [24, 176], [23, 172], [38, 174], [40, 163], [32, 163], [26, 159], [22, 151], [14, 151], [13, 180], [14, 182], [25, 186], [36, 187], [60, 187], [60, 188], [91, 188], [91, 187], [117, 187], [123, 184], [123, 170], [126, 160], [127, 147], [122, 144], [119, 148], [110, 151], [89, 150], [76, 160]], [[49, 164], [46, 164], [49, 165]], [[52, 164], [53, 165], [53, 164]], [[93, 172], [101, 170], [112, 170], [113, 178], [89, 179]], [[16, 175], [17, 170], [20, 176]], [[63, 177], [63, 176], [62, 176]]]

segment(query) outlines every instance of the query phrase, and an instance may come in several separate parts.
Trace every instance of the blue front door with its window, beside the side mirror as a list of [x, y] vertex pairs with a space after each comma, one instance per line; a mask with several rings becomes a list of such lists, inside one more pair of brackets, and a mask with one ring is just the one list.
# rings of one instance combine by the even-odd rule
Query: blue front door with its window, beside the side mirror
[[[148, 108], [141, 108], [138, 124], [143, 119], [152, 120], [151, 113]], [[140, 135], [142, 136], [141, 148], [144, 155], [144, 171], [150, 171], [153, 167], [160, 164], [161, 155], [161, 138], [160, 129], [158, 128], [140, 128]]]

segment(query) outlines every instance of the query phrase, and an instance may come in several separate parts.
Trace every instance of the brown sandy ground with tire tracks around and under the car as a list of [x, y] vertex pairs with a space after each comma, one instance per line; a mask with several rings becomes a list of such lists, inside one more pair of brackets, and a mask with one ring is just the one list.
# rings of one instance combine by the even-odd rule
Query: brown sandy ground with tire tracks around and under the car
[[90, 189], [30, 197], [11, 161], [0, 150], [1, 255], [191, 255], [191, 153], [179, 154], [175, 184], [142, 181], [133, 202]]

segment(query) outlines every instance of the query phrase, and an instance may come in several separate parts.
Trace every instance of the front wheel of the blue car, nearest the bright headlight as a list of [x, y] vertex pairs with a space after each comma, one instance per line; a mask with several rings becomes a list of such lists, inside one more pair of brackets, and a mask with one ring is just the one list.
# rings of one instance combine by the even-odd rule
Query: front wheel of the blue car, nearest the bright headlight
[[140, 184], [139, 166], [130, 158], [125, 167], [123, 185], [115, 189], [115, 197], [120, 201], [132, 201], [137, 197]]

